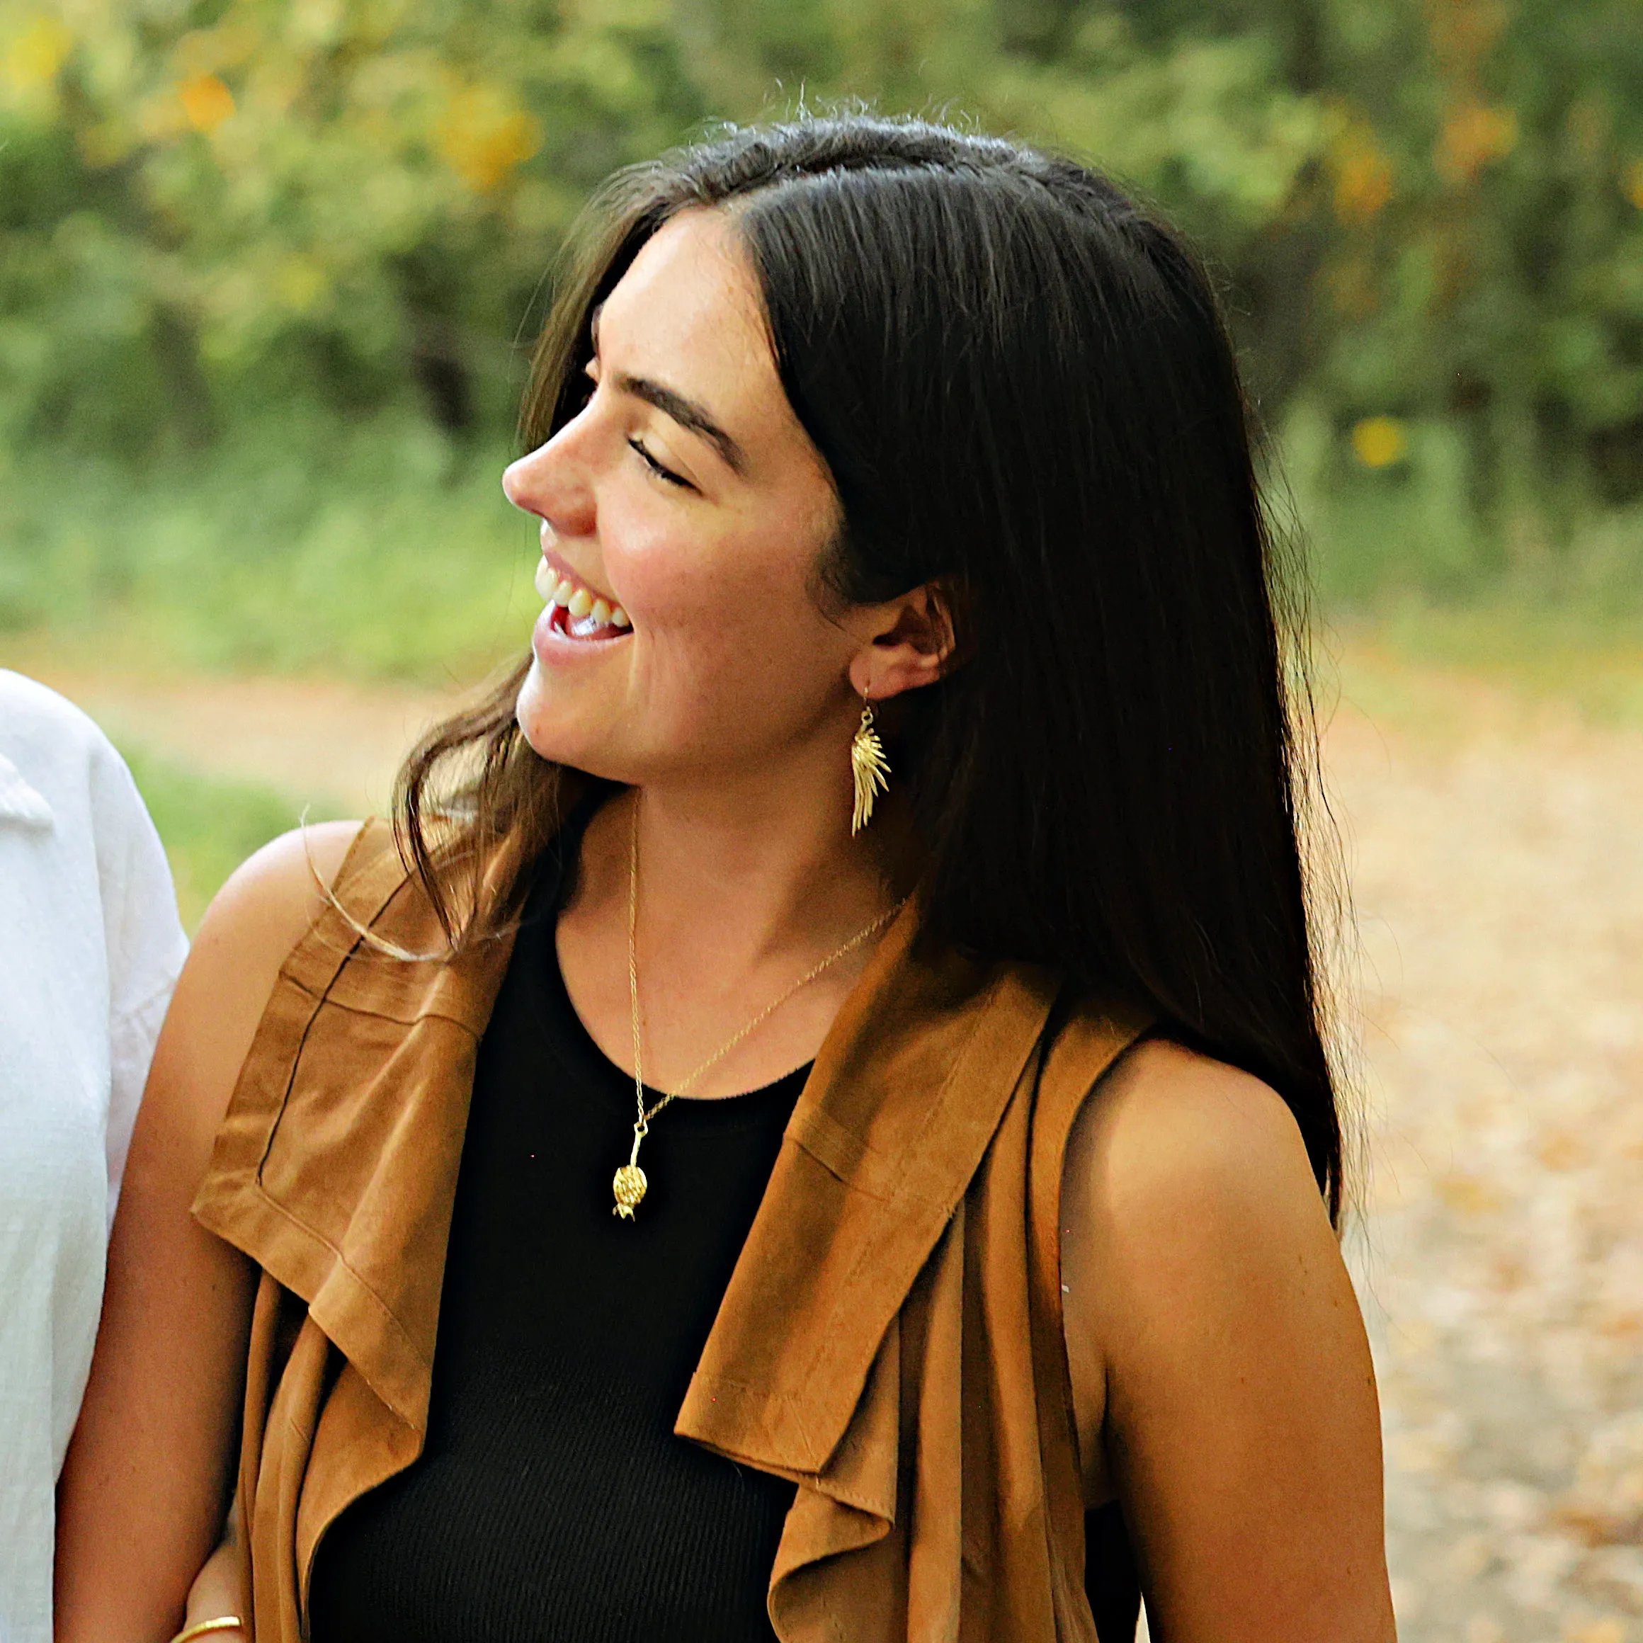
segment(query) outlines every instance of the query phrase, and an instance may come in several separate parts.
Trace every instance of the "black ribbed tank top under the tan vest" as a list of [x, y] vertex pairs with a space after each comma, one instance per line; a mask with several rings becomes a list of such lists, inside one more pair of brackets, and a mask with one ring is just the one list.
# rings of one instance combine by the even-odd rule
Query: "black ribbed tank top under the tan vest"
[[320, 1539], [312, 1643], [774, 1638], [792, 1485], [672, 1428], [808, 1068], [672, 1102], [613, 1216], [634, 1089], [565, 992], [564, 879], [550, 851], [480, 1045], [427, 1443]]

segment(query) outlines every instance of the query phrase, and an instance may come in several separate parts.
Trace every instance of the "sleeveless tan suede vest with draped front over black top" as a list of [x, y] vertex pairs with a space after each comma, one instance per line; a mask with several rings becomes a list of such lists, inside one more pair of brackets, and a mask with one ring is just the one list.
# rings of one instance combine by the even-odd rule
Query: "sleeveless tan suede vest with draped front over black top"
[[[437, 950], [381, 823], [337, 897]], [[914, 937], [909, 907], [817, 1056], [675, 1431], [798, 1485], [782, 1643], [1094, 1643], [1056, 1217], [1073, 1119], [1145, 1024]], [[325, 1526], [421, 1452], [508, 951], [393, 958], [327, 910], [217, 1137], [194, 1214], [263, 1272], [238, 1477], [256, 1643], [299, 1643]]]

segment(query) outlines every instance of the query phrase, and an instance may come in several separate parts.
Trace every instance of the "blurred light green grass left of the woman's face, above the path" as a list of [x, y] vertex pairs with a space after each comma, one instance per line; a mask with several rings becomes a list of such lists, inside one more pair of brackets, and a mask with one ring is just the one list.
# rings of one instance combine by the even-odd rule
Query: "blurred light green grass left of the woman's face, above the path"
[[504, 460], [406, 416], [292, 417], [143, 472], [0, 453], [0, 633], [173, 670], [475, 677], [534, 610]]

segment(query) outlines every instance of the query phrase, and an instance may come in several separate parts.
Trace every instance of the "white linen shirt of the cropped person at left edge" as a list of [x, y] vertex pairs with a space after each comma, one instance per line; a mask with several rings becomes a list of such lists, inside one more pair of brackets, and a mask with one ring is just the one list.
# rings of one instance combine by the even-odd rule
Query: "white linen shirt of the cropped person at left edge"
[[0, 1643], [51, 1643], [54, 1492], [187, 941], [97, 726], [0, 669]]

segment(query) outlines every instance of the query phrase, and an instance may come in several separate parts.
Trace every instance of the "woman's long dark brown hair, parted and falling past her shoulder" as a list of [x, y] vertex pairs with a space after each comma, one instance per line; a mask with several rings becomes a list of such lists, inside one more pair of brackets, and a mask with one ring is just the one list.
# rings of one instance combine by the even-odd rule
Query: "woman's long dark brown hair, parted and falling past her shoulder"
[[[828, 596], [950, 591], [963, 665], [907, 698], [897, 738], [923, 928], [1135, 999], [1263, 1078], [1337, 1214], [1298, 583], [1203, 265], [1102, 176], [1015, 143], [863, 115], [734, 131], [595, 200], [527, 447], [582, 409], [593, 309], [692, 205], [733, 205], [838, 490]], [[514, 723], [526, 665], [401, 772], [401, 848], [457, 945], [513, 915], [575, 780]]]

